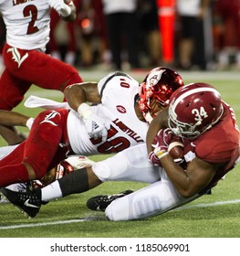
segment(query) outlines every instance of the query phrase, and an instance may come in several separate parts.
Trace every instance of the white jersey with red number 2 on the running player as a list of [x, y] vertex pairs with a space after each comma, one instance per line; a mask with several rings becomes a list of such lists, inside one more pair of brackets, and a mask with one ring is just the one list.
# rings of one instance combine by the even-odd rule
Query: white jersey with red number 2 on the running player
[[46, 49], [50, 31], [50, 9], [60, 12], [63, 0], [0, 0], [6, 42], [16, 48]]

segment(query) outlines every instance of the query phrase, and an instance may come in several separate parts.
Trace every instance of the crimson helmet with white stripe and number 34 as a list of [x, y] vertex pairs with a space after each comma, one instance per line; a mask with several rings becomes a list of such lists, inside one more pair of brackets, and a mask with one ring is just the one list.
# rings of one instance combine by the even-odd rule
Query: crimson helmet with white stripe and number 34
[[172, 133], [195, 139], [212, 128], [223, 115], [221, 95], [213, 86], [197, 82], [172, 94], [169, 104], [169, 127]]

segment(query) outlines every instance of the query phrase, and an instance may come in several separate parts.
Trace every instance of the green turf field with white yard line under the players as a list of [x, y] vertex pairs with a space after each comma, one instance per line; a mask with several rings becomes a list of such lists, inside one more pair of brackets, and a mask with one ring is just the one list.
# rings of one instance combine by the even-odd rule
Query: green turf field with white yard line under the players
[[[99, 80], [105, 73], [84, 72], [84, 80]], [[131, 74], [142, 80], [145, 73]], [[224, 101], [235, 109], [240, 122], [240, 74], [235, 72], [183, 72], [185, 83], [204, 81], [214, 85]], [[33, 87], [26, 96], [34, 94], [61, 101], [55, 91]], [[16, 111], [35, 116], [23, 104]], [[25, 129], [22, 129], [26, 132]], [[4, 145], [3, 139], [0, 144]], [[106, 157], [106, 156], [105, 156]], [[93, 156], [100, 160], [102, 156]], [[213, 189], [213, 195], [203, 196], [189, 205], [152, 219], [129, 222], [110, 222], [103, 213], [90, 211], [85, 203], [89, 197], [116, 193], [124, 189], [143, 187], [140, 183], [110, 182], [87, 193], [58, 199], [43, 206], [35, 219], [27, 219], [9, 203], [0, 204], [1, 238], [239, 238], [240, 237], [240, 165], [235, 167]]]

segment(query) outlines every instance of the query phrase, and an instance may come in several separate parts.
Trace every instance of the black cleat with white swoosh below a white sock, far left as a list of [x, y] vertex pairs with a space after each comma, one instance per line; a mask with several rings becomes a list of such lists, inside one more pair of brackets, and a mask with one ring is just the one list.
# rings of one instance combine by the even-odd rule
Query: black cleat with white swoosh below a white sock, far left
[[29, 217], [36, 217], [42, 203], [32, 187], [26, 187], [25, 191], [13, 191], [2, 187], [0, 191], [12, 204], [26, 212]]

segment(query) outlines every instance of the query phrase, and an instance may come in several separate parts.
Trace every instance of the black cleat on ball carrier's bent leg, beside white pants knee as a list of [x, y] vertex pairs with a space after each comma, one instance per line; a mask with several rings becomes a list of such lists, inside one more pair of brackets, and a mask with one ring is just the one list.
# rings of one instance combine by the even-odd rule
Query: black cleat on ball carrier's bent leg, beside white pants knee
[[132, 190], [125, 190], [115, 195], [99, 195], [96, 197], [91, 197], [87, 201], [87, 207], [91, 210], [105, 211], [112, 201], [120, 197], [125, 197], [132, 192]]

